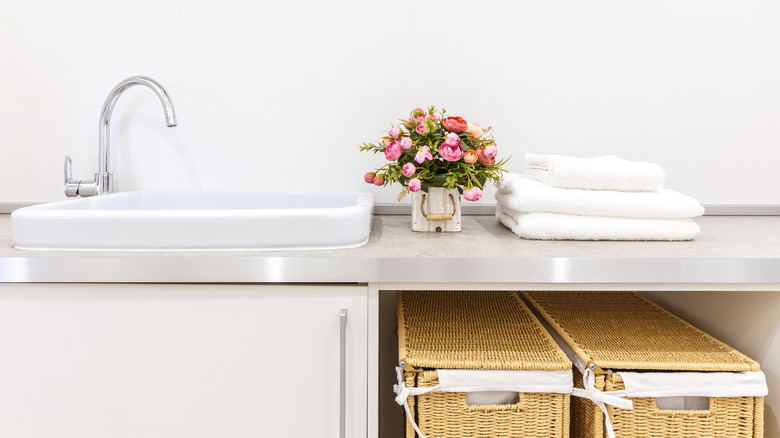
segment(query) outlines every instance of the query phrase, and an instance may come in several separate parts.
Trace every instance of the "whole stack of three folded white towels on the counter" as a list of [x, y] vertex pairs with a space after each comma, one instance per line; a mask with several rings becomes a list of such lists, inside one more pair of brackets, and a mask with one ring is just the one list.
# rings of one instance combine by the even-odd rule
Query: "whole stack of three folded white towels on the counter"
[[515, 234], [544, 240], [691, 240], [704, 208], [663, 188], [652, 163], [614, 156], [525, 156], [528, 169], [498, 183], [496, 216]]

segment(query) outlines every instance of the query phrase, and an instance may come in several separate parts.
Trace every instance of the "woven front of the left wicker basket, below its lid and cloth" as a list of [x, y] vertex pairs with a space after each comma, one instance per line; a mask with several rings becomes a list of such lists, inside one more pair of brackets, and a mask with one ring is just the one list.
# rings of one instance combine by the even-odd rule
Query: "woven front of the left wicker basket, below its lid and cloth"
[[[436, 371], [406, 373], [407, 386], [431, 387]], [[533, 438], [569, 436], [568, 394], [519, 394], [510, 405], [469, 406], [464, 393], [431, 392], [409, 398], [420, 430], [428, 438]], [[406, 422], [406, 437], [414, 438]]]

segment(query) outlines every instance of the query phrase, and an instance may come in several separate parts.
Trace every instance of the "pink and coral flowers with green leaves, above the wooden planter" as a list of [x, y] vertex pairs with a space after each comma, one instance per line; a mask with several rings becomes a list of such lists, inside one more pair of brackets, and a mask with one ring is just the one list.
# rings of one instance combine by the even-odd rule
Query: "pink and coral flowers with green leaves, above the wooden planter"
[[398, 182], [404, 186], [398, 200], [409, 192], [431, 187], [457, 188], [468, 201], [482, 197], [487, 181], [498, 181], [505, 172], [506, 159], [496, 161], [498, 149], [491, 137], [492, 128], [482, 128], [461, 117], [446, 117], [446, 110], [412, 110], [411, 117], [400, 119], [377, 144], [363, 143], [361, 151], [382, 152], [388, 163], [364, 179], [385, 186]]

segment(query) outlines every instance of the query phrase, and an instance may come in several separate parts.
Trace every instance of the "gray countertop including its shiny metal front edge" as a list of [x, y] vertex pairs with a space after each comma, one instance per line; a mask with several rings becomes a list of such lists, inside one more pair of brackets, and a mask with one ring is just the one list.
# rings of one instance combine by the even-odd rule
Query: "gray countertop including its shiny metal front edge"
[[707, 216], [690, 242], [520, 239], [492, 216], [414, 233], [375, 216], [365, 246], [332, 251], [20, 251], [0, 215], [0, 282], [780, 284], [780, 216]]

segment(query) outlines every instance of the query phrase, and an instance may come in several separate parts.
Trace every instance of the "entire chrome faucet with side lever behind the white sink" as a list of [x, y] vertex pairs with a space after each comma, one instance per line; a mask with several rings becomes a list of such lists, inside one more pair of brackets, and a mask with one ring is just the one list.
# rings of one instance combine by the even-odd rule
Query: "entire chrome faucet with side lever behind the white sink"
[[98, 142], [98, 171], [95, 178], [88, 180], [72, 179], [72, 164], [70, 157], [65, 157], [65, 196], [94, 196], [111, 193], [114, 188], [114, 175], [108, 171], [109, 134], [111, 113], [119, 96], [134, 85], [145, 85], [152, 89], [160, 98], [165, 111], [165, 124], [169, 128], [176, 126], [176, 112], [173, 109], [168, 92], [157, 81], [145, 76], [133, 76], [120, 82], [106, 98], [103, 110], [100, 112], [100, 141]]

